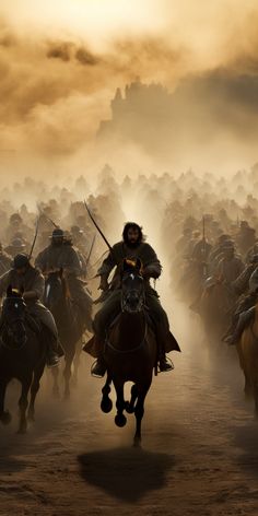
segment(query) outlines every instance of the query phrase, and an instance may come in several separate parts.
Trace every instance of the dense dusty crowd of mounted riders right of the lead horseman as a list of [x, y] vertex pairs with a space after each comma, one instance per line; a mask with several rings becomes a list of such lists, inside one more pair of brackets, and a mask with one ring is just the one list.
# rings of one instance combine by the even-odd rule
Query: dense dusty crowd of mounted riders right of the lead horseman
[[207, 175], [207, 183], [186, 174], [187, 187], [181, 195], [175, 187], [162, 224], [172, 236], [171, 249], [163, 245], [176, 297], [201, 320], [211, 350], [235, 347], [258, 413], [257, 173], [256, 166], [227, 181]]

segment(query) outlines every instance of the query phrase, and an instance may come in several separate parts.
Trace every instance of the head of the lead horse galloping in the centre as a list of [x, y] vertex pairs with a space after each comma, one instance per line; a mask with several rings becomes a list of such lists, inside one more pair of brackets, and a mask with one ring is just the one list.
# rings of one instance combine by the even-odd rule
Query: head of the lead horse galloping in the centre
[[141, 312], [145, 302], [142, 262], [125, 259], [121, 271], [121, 308], [122, 312]]

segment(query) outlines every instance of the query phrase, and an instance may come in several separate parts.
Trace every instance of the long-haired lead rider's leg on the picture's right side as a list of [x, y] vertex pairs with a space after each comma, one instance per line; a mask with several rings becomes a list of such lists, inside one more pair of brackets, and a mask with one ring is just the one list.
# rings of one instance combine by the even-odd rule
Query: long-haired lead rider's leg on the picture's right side
[[159, 362], [162, 372], [171, 371], [174, 364], [166, 359], [166, 341], [169, 338], [169, 322], [165, 310], [163, 309], [159, 297], [155, 294], [146, 295], [146, 304], [150, 308], [150, 316], [154, 322], [155, 336], [159, 348]]

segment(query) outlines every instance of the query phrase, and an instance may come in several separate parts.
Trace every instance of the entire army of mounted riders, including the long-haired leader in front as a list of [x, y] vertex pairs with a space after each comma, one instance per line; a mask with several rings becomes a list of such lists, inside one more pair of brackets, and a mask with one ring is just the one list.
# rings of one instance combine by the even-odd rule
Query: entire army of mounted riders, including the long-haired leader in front
[[[168, 257], [173, 292], [203, 320], [209, 337], [237, 348], [246, 328], [255, 331], [258, 201], [253, 192], [258, 190], [258, 167], [231, 181], [189, 171], [177, 179], [140, 175], [118, 184], [106, 166], [86, 202], [81, 200], [87, 191], [83, 177], [70, 190], [50, 190], [31, 179], [15, 188], [35, 204], [14, 208], [7, 200], [14, 190], [0, 191], [0, 420], [9, 422], [4, 394], [15, 377], [23, 386], [20, 429], [26, 429], [28, 389], [33, 417], [45, 365], [52, 367], [57, 391], [56, 366], [63, 355], [69, 397], [72, 363], [83, 348], [96, 359], [93, 376], [107, 373], [102, 409], [112, 408], [113, 382], [116, 423], [125, 424], [125, 410], [134, 412], [138, 442], [153, 371], [172, 371], [166, 353], [180, 351], [155, 289], [162, 263], [141, 223], [153, 225]], [[121, 206], [128, 202], [141, 223], [122, 228]], [[117, 244], [109, 244], [105, 235], [110, 234], [117, 235]], [[246, 389], [257, 389], [258, 408], [258, 382], [256, 387], [245, 375]], [[130, 402], [124, 399], [128, 380], [133, 382]]]

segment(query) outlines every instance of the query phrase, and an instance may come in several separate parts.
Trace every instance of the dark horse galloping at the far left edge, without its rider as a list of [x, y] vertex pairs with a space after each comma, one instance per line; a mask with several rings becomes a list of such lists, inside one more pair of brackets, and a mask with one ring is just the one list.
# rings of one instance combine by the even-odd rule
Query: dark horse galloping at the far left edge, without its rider
[[22, 384], [22, 395], [19, 400], [20, 433], [26, 432], [27, 415], [34, 421], [35, 399], [47, 355], [47, 345], [40, 341], [38, 331], [33, 325], [36, 322], [27, 317], [22, 293], [9, 286], [0, 324], [0, 421], [3, 424], [9, 424], [11, 421], [11, 414], [4, 410], [4, 398], [9, 382], [15, 378]]

